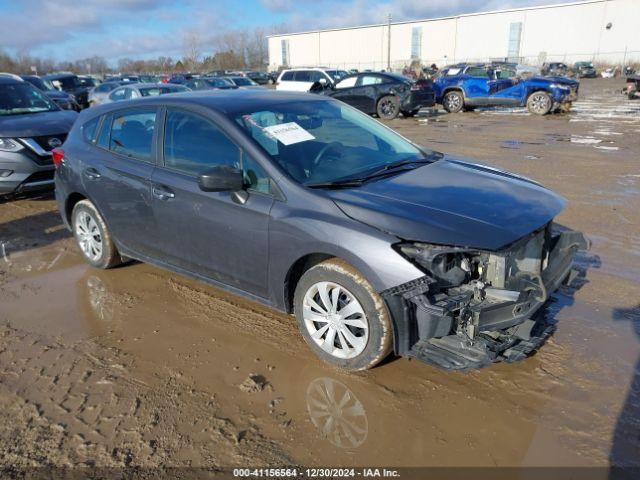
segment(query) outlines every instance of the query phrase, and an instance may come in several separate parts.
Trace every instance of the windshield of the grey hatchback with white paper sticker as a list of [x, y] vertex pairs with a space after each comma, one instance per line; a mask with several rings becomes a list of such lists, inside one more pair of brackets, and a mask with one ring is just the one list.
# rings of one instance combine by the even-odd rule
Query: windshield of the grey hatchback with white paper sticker
[[393, 130], [335, 101], [294, 101], [235, 116], [298, 182], [313, 186], [366, 176], [398, 162], [431, 160]]

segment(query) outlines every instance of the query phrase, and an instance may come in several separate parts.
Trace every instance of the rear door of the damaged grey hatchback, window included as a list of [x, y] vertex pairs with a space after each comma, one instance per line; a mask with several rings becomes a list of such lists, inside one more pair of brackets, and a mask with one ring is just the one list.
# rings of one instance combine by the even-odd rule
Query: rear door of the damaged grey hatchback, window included
[[151, 207], [155, 168], [157, 109], [127, 108], [103, 117], [96, 147], [82, 171], [85, 191], [103, 215], [117, 242], [152, 256], [157, 234]]

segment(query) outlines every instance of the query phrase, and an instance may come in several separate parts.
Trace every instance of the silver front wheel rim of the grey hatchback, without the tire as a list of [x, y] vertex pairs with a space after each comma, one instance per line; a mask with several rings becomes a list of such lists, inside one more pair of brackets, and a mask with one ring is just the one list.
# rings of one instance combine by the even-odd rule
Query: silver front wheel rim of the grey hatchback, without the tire
[[369, 322], [356, 297], [333, 282], [312, 285], [302, 302], [304, 324], [311, 339], [336, 358], [360, 355], [369, 339]]

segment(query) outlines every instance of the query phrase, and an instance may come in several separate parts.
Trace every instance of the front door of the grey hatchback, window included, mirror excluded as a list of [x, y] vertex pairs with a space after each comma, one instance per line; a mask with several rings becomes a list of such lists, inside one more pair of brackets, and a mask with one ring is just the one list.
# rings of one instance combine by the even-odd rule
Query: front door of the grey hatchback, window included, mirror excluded
[[[270, 180], [206, 114], [169, 108], [164, 117], [162, 165], [151, 179], [163, 258], [266, 297]], [[244, 169], [245, 202], [237, 193], [200, 190], [198, 175], [216, 165]]]

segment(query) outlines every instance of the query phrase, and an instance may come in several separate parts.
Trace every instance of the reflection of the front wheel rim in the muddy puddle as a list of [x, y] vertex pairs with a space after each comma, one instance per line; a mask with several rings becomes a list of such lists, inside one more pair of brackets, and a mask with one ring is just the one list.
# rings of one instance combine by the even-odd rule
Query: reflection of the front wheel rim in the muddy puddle
[[327, 377], [307, 388], [307, 411], [323, 438], [342, 449], [362, 445], [369, 433], [364, 405], [343, 383]]

